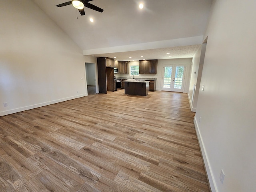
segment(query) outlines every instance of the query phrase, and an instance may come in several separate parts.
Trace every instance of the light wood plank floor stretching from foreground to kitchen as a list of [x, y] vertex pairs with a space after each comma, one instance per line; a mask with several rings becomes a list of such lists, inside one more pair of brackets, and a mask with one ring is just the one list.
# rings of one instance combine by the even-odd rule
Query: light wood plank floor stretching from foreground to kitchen
[[208, 192], [187, 94], [124, 90], [0, 117], [1, 192]]

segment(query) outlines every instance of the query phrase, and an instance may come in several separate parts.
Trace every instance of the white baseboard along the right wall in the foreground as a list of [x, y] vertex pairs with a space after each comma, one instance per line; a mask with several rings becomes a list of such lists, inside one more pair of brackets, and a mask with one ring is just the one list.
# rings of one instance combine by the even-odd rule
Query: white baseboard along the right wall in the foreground
[[200, 133], [200, 129], [198, 127], [196, 117], [194, 117], [194, 126], [195, 126], [195, 129], [196, 129], [196, 136], [198, 138], [202, 158], [203, 158], [203, 161], [204, 161], [204, 167], [206, 169], [206, 174], [208, 176], [208, 181], [209, 181], [209, 184], [210, 184], [210, 188], [211, 188], [212, 192], [218, 192], [218, 189], [216, 187], [216, 182], [214, 180], [212, 168], [211, 168], [210, 163], [209, 163], [209, 159], [208, 159], [205, 147], [204, 147], [204, 142], [202, 140], [202, 136], [201, 136], [201, 133]]

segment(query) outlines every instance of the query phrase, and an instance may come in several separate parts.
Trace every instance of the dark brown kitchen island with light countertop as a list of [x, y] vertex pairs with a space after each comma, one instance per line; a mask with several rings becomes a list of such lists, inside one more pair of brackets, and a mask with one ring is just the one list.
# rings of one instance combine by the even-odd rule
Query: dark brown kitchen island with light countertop
[[129, 79], [124, 81], [124, 94], [147, 96], [149, 81]]

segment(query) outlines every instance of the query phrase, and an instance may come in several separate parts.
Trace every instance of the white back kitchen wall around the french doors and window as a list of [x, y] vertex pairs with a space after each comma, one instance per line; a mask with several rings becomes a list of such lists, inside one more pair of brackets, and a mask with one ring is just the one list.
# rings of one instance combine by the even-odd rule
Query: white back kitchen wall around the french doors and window
[[[184, 58], [184, 59], [160, 59], [157, 64], [157, 74], [139, 74], [139, 76], [135, 76], [135, 78], [156, 78], [156, 90], [161, 91], [161, 83], [162, 83], [162, 70], [163, 65], [165, 64], [186, 64], [186, 74], [185, 74], [185, 84], [184, 84], [184, 93], [188, 93], [189, 83], [190, 83], [190, 67], [191, 67], [192, 58]], [[129, 65], [139, 65], [139, 61], [130, 61]], [[130, 67], [128, 66], [130, 70]], [[128, 72], [129, 72], [128, 70]], [[115, 74], [116, 77], [129, 77], [130, 74]]]

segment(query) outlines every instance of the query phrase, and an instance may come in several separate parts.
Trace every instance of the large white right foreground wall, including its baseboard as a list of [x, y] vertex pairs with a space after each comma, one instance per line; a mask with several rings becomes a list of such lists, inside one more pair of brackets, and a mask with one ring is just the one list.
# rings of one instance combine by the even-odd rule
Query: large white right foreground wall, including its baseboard
[[[212, 191], [256, 189], [256, 1], [214, 0], [195, 125]], [[224, 170], [223, 184], [220, 172]]]

